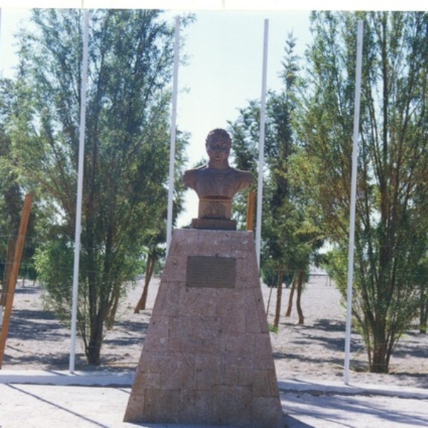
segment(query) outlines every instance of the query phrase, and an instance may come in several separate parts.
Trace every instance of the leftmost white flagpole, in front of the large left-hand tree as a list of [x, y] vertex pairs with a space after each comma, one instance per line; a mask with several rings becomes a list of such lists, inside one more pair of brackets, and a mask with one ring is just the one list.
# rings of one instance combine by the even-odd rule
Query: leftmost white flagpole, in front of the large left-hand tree
[[74, 270], [73, 270], [73, 305], [71, 307], [71, 345], [70, 345], [70, 366], [71, 373], [74, 372], [74, 362], [76, 357], [76, 324], [77, 324], [77, 300], [78, 300], [78, 265], [81, 247], [81, 214], [82, 214], [82, 194], [83, 194], [83, 163], [85, 153], [85, 125], [86, 125], [86, 78], [88, 74], [88, 33], [89, 16], [85, 11], [83, 28], [83, 58], [82, 58], [82, 86], [81, 86], [81, 116], [80, 116], [80, 136], [78, 143], [78, 180], [77, 180], [77, 200], [76, 200], [76, 229], [74, 246]]

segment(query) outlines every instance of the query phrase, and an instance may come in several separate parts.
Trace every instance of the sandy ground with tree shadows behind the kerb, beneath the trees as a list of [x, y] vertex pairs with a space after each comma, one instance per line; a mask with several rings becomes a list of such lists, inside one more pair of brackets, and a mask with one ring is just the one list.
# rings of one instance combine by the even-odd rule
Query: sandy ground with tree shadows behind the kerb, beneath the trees
[[[97, 370], [135, 370], [140, 357], [151, 310], [158, 290], [153, 280], [148, 309], [136, 315], [133, 307], [141, 294], [142, 284], [123, 299], [116, 326], [106, 332], [102, 349], [102, 365]], [[262, 286], [265, 307], [269, 287]], [[285, 314], [289, 290], [282, 296]], [[276, 290], [269, 302], [268, 321], [272, 322]], [[272, 350], [279, 379], [329, 380], [343, 379], [345, 349], [345, 311], [340, 294], [326, 277], [311, 277], [302, 295], [305, 325], [297, 325], [297, 314], [282, 315], [280, 329], [271, 334]], [[4, 355], [4, 370], [67, 370], [70, 332], [44, 310], [41, 287], [18, 286], [14, 297], [9, 337]], [[76, 344], [76, 370], [94, 370], [86, 365], [80, 340]], [[351, 383], [394, 384], [428, 388], [428, 335], [416, 330], [407, 332], [399, 342], [390, 363], [389, 374], [367, 372], [367, 355], [360, 335], [352, 334]], [[1, 374], [1, 373], [0, 373]]]

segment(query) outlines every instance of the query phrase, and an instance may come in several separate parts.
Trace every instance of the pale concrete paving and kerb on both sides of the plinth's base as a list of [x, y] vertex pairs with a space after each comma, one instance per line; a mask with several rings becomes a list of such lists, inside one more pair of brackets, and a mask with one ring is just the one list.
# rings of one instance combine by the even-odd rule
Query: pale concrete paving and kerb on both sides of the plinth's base
[[[1, 371], [0, 427], [196, 428], [122, 422], [132, 378], [131, 372]], [[428, 427], [428, 389], [301, 379], [278, 385], [288, 428]]]

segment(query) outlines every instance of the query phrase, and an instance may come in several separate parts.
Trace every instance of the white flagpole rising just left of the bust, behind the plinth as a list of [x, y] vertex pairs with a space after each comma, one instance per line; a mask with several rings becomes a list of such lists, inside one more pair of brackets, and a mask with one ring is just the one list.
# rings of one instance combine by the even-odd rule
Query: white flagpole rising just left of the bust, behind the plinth
[[168, 254], [173, 234], [173, 197], [174, 197], [174, 161], [175, 161], [175, 126], [177, 123], [177, 92], [178, 92], [178, 59], [180, 50], [180, 18], [175, 19], [174, 73], [173, 73], [173, 108], [171, 113], [170, 138], [170, 169], [168, 188], [168, 214], [166, 220], [166, 251]]

